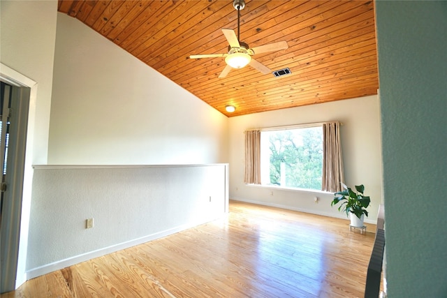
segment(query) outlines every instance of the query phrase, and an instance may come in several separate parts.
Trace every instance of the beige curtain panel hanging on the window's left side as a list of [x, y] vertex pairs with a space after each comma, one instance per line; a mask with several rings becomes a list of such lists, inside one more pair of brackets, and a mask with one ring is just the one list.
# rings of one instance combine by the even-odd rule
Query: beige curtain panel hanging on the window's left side
[[245, 131], [246, 184], [261, 184], [261, 131]]

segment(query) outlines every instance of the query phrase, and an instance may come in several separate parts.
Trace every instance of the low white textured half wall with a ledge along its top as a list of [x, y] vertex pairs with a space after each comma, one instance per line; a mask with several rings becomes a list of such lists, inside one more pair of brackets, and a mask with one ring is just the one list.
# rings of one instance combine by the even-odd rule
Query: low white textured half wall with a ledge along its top
[[[228, 165], [36, 166], [28, 278], [212, 221]], [[86, 229], [87, 218], [94, 228]]]

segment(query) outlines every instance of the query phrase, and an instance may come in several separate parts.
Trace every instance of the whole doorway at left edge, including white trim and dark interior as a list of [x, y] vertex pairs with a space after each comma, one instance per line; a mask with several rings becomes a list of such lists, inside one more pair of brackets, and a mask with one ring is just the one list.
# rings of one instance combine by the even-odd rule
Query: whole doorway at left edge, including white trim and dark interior
[[[21, 226], [27, 230], [28, 224], [22, 225], [22, 203], [25, 197], [25, 205], [31, 203], [30, 191], [24, 195], [24, 189], [31, 187], [31, 180], [25, 181], [25, 177], [32, 179], [32, 167], [25, 167], [25, 157], [30, 155], [27, 132], [31, 89], [35, 94], [37, 86], [3, 64], [0, 83], [0, 292], [3, 293], [15, 290], [26, 280], [27, 250], [20, 253], [20, 246], [27, 246], [27, 241], [22, 241], [27, 235], [21, 234]], [[25, 217], [29, 221], [29, 214]]]

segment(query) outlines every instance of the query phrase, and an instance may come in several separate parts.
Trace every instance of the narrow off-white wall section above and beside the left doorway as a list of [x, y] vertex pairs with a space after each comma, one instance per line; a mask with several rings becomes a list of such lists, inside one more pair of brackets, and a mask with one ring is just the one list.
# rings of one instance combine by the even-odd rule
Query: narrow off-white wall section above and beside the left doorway
[[0, 1], [1, 63], [38, 84], [34, 163], [47, 162], [57, 1]]

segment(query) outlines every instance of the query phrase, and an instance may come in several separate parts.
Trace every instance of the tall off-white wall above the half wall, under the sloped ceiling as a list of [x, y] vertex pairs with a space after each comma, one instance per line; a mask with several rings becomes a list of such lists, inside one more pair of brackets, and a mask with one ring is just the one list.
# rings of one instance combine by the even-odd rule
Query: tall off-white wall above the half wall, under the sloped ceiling
[[228, 118], [63, 13], [50, 164], [227, 162]]

